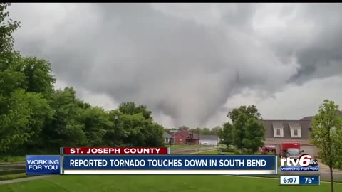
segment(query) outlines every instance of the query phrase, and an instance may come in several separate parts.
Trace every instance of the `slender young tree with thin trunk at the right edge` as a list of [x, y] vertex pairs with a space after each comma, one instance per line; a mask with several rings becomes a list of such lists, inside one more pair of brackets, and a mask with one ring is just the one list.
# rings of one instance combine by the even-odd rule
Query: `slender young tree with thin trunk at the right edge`
[[342, 119], [338, 115], [338, 105], [324, 100], [312, 125], [311, 143], [318, 148], [318, 155], [329, 166], [333, 192], [333, 170], [341, 164], [342, 158]]

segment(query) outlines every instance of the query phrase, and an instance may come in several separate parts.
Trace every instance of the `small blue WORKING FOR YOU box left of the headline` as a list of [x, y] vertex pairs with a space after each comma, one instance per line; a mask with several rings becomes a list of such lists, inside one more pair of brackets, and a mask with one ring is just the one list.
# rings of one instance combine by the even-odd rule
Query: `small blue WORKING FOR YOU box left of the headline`
[[59, 155], [26, 155], [26, 174], [61, 174], [61, 163]]

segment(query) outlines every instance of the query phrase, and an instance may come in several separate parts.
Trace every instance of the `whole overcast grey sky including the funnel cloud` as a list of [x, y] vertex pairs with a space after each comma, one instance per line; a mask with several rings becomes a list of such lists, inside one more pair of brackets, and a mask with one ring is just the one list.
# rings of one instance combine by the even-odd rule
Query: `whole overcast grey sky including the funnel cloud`
[[165, 127], [214, 127], [342, 104], [342, 4], [12, 4], [22, 55], [107, 110], [145, 104]]

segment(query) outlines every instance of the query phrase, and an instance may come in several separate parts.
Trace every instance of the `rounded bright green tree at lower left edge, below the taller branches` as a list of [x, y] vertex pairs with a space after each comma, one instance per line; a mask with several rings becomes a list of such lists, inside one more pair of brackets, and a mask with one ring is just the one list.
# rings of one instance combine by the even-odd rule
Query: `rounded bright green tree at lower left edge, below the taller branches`
[[11, 97], [3, 97], [6, 109], [0, 114], [0, 152], [21, 146], [31, 137], [38, 136], [46, 118], [53, 110], [41, 95], [16, 90]]

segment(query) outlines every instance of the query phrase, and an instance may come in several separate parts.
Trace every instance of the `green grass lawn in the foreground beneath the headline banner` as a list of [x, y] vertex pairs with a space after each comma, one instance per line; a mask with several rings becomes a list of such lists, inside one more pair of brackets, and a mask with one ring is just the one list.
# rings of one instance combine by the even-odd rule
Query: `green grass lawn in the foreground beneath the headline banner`
[[[56, 176], [35, 181], [0, 186], [1, 192], [322, 192], [330, 191], [328, 183], [321, 186], [279, 186], [276, 179], [234, 176]], [[342, 191], [336, 184], [335, 191]]]

